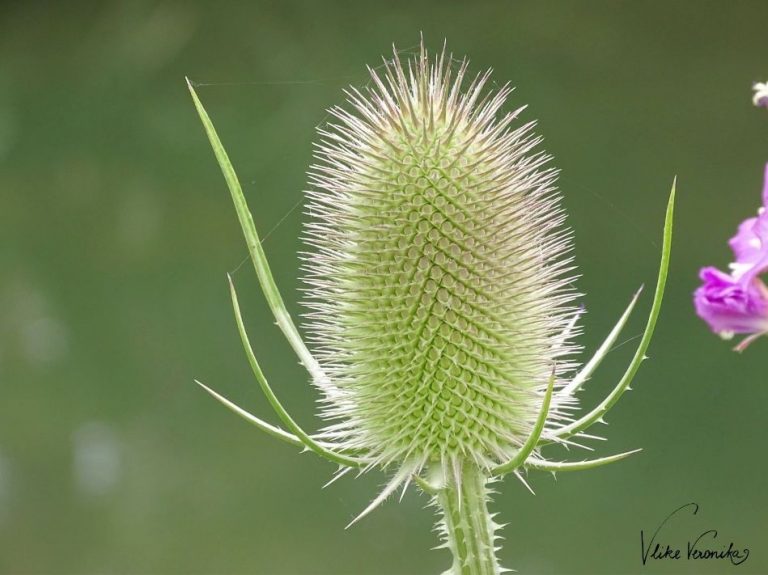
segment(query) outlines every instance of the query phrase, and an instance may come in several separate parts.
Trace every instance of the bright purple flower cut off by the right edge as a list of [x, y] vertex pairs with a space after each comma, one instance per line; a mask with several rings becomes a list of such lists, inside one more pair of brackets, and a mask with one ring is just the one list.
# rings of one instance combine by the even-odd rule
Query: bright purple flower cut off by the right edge
[[768, 287], [758, 277], [768, 270], [768, 164], [765, 167], [763, 206], [757, 217], [744, 220], [728, 242], [736, 261], [731, 273], [706, 267], [704, 282], [694, 293], [696, 313], [724, 338], [750, 334], [736, 349], [745, 349], [768, 334]]

